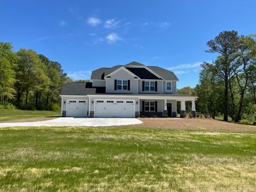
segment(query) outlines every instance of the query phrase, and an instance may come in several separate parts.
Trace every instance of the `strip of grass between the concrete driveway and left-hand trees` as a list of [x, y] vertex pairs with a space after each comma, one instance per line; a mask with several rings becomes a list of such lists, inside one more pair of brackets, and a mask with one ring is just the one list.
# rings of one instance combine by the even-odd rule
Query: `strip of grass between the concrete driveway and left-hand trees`
[[26, 122], [36, 120], [49, 120], [52, 116], [60, 116], [56, 111], [27, 111], [19, 109], [1, 109], [0, 122]]

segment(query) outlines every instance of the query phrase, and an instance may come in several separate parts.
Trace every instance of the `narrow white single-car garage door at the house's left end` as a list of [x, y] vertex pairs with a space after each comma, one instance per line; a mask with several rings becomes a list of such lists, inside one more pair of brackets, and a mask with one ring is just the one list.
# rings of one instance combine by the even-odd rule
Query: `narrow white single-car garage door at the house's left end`
[[86, 99], [68, 99], [67, 116], [86, 117], [88, 111], [88, 102]]

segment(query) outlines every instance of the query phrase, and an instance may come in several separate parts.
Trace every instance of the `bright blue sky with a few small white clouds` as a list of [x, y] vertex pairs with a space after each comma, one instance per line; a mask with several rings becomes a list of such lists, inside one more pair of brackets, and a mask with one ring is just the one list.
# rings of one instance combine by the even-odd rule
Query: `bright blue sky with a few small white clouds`
[[0, 41], [34, 49], [74, 79], [131, 61], [173, 70], [178, 88], [198, 83], [206, 42], [221, 31], [256, 33], [255, 0], [0, 0]]

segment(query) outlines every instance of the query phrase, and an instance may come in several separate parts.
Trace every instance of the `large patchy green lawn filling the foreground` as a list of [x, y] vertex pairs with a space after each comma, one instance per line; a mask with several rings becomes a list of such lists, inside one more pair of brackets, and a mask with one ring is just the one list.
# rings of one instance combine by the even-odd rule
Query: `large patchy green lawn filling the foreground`
[[254, 191], [256, 134], [0, 129], [0, 191]]

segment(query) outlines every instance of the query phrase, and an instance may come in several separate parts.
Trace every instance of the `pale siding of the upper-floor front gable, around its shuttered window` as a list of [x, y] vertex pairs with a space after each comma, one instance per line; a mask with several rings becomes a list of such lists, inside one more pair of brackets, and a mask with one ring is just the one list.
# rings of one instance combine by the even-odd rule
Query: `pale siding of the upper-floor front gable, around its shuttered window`
[[[130, 90], [115, 90], [116, 80], [130, 80]], [[119, 70], [113, 76], [106, 79], [106, 93], [138, 93], [138, 79], [129, 74], [124, 69]]]

